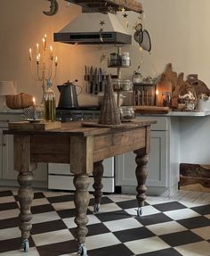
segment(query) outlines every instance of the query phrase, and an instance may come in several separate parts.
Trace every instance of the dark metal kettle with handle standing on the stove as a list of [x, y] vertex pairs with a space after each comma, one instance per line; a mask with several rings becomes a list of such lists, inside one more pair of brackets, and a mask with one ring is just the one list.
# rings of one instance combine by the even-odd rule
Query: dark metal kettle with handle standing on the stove
[[[77, 82], [77, 80], [75, 80]], [[59, 109], [69, 109], [69, 108], [77, 108], [78, 107], [78, 99], [77, 96], [81, 94], [82, 87], [74, 85], [69, 82], [69, 80], [61, 85], [57, 86], [60, 92], [60, 99], [58, 103]], [[77, 94], [76, 87], [80, 87], [80, 92]]]

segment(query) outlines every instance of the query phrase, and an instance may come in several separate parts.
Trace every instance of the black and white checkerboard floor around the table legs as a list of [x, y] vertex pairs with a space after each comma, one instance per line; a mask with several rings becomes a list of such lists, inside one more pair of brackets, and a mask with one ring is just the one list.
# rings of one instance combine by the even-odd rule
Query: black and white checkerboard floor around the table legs
[[[20, 251], [17, 192], [0, 191], [0, 255], [77, 255], [73, 194], [36, 192], [28, 253]], [[87, 211], [89, 256], [210, 256], [208, 202], [147, 200], [136, 217], [135, 196], [105, 195]]]

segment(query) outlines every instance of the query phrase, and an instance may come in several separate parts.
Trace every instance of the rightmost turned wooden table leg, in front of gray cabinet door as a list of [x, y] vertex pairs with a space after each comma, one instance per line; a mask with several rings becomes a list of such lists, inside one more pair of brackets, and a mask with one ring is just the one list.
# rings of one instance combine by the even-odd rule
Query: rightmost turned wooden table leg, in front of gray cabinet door
[[146, 169], [146, 165], [148, 163], [148, 154], [145, 152], [144, 149], [135, 150], [134, 153], [136, 154], [135, 162], [137, 167], [135, 169], [135, 176], [137, 178], [136, 191], [137, 191], [137, 201], [138, 201], [138, 210], [137, 215], [141, 216], [141, 207], [144, 205], [146, 199], [146, 191], [147, 187], [145, 186], [146, 178], [148, 176], [148, 172]]

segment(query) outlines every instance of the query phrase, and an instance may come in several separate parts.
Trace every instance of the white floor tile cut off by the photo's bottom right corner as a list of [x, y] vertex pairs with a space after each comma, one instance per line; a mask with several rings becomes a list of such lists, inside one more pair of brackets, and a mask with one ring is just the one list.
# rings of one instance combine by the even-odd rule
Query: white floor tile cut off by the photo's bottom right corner
[[210, 243], [206, 241], [174, 247], [182, 256], [209, 256]]

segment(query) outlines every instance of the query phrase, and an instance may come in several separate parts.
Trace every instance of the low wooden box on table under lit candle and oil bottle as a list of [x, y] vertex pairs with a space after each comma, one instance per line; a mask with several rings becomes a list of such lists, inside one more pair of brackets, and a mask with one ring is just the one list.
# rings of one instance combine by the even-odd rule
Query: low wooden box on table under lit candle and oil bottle
[[22, 130], [22, 131], [31, 131], [31, 130], [51, 130], [61, 128], [61, 122], [36, 122], [36, 121], [20, 121], [20, 122], [10, 122], [9, 129]]

